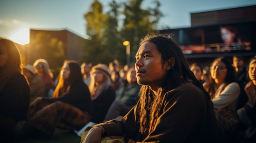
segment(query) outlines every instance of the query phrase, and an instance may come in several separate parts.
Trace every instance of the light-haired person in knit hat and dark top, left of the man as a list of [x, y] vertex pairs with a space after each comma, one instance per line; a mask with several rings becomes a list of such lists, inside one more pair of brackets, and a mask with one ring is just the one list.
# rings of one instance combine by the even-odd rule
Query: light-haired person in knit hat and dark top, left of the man
[[91, 122], [101, 123], [116, 97], [115, 90], [111, 86], [111, 71], [106, 64], [92, 67], [89, 90], [94, 110]]

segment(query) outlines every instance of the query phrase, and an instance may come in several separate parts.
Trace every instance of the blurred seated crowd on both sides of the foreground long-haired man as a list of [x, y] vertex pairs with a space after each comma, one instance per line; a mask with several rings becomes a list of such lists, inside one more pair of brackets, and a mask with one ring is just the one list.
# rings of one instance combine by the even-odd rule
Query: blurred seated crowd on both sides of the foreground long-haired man
[[[11, 45], [10, 40], [1, 40], [0, 48], [4, 44], [16, 47], [15, 44]], [[4, 48], [2, 51], [13, 52]], [[10, 64], [15, 62], [11, 59], [7, 61]], [[7, 91], [20, 90], [19, 93], [23, 93], [21, 101], [24, 103], [22, 106], [16, 103], [17, 108], [23, 112], [20, 116], [11, 114], [15, 112], [14, 107], [1, 111], [1, 118], [11, 119], [4, 122], [7, 119], [3, 118], [1, 121], [2, 127], [7, 129], [1, 130], [1, 138], [16, 136], [22, 132], [28, 136], [48, 139], [53, 137], [54, 128], [78, 132], [112, 119], [120, 121], [139, 99], [141, 86], [137, 84], [134, 66], [125, 65], [121, 68], [117, 60], [110, 62], [108, 66], [65, 61], [56, 85], [50, 76], [46, 59], [38, 59], [33, 65], [21, 65], [20, 62], [16, 69], [9, 69], [7, 63], [0, 65], [0, 74], [8, 77], [0, 77], [3, 83], [0, 85], [1, 102], [5, 101]], [[222, 140], [225, 142], [234, 138], [245, 142], [255, 141], [256, 57], [252, 57], [248, 66], [239, 55], [235, 55], [233, 61], [217, 57], [208, 66], [209, 71], [206, 71], [200, 64], [193, 63], [190, 70], [210, 95], [220, 132], [223, 133]], [[10, 73], [3, 69], [8, 69]], [[208, 77], [205, 74], [206, 79], [203, 79], [204, 73], [209, 74]], [[22, 90], [21, 85], [13, 83], [13, 76], [16, 76], [16, 80], [20, 78], [23, 82], [24, 78], [26, 81], [22, 84]], [[13, 87], [20, 88], [13, 90], [9, 87], [12, 84]], [[242, 135], [237, 136], [238, 133]], [[82, 132], [78, 135], [81, 134]]]

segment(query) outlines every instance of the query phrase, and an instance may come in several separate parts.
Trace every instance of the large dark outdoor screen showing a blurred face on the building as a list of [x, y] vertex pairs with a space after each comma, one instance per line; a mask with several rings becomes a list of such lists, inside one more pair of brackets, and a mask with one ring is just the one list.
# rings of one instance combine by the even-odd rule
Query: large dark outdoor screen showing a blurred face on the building
[[169, 29], [181, 45], [184, 54], [249, 52], [251, 48], [251, 24], [222, 24], [214, 26]]

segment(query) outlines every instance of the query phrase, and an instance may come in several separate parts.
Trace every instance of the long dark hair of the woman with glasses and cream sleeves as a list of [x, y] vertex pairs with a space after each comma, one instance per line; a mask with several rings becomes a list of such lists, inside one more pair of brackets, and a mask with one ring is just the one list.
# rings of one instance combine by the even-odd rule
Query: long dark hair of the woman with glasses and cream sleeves
[[[211, 63], [211, 66], [216, 61], [223, 62], [227, 68], [227, 76], [225, 77], [224, 82], [226, 82], [227, 84], [230, 84], [231, 82], [236, 82], [236, 72], [232, 64], [226, 58], [218, 57]], [[209, 81], [205, 84], [204, 87], [208, 89], [208, 92], [211, 95], [211, 98], [213, 98], [213, 95], [216, 91], [215, 91], [215, 81], [211, 76], [209, 76]]]

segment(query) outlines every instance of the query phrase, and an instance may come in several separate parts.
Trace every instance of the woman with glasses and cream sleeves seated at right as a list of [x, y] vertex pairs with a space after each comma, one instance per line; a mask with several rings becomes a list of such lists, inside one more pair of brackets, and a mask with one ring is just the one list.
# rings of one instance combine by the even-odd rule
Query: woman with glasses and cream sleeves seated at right
[[240, 94], [235, 70], [227, 59], [219, 57], [212, 62], [210, 74], [204, 88], [211, 95], [216, 118], [226, 130], [233, 132], [232, 127], [238, 122], [236, 106]]

